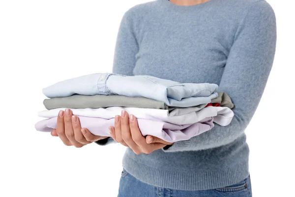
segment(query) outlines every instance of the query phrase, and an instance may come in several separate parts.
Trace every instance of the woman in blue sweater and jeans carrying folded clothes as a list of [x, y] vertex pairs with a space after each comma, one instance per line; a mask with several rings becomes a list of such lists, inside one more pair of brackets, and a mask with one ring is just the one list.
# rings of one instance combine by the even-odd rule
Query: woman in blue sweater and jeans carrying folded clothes
[[265, 0], [155, 0], [129, 9], [120, 24], [113, 72], [177, 82], [215, 83], [235, 104], [227, 127], [169, 144], [141, 135], [122, 111], [112, 138], [81, 130], [70, 110], [57, 130], [66, 145], [127, 146], [118, 197], [251, 197], [244, 130], [262, 97], [276, 45]]

